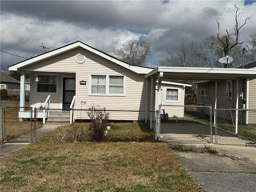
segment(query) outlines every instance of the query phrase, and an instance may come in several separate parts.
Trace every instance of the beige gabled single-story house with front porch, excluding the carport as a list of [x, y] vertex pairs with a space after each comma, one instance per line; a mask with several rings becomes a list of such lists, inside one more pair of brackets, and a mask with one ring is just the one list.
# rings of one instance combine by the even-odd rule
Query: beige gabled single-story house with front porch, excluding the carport
[[[24, 74], [29, 73], [32, 108], [44, 106], [61, 110], [70, 109], [71, 104], [74, 109], [92, 104], [106, 109], [150, 108], [150, 91], [146, 85], [151, 86], [151, 82], [145, 75], [152, 68], [129, 65], [79, 41], [14, 64], [9, 70], [21, 72], [20, 106], [24, 106]], [[20, 116], [25, 117], [26, 112], [22, 110]], [[88, 118], [84, 115], [74, 118]], [[141, 120], [146, 117], [138, 113], [128, 119], [119, 118]]]

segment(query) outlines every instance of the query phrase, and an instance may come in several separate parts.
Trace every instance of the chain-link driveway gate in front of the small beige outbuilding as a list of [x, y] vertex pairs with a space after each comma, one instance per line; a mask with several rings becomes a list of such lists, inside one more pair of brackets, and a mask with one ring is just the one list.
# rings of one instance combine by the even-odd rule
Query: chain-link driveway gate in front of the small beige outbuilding
[[160, 140], [212, 143], [212, 107], [160, 105]]

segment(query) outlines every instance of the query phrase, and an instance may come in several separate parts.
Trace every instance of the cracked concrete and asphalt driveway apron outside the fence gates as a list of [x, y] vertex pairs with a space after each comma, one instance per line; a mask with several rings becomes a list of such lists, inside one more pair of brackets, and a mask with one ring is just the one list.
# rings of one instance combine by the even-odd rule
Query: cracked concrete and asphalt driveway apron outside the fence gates
[[[256, 191], [256, 147], [215, 144], [183, 144], [182, 147], [193, 152], [173, 150], [178, 162], [206, 191]], [[219, 153], [210, 154], [210, 150]]]

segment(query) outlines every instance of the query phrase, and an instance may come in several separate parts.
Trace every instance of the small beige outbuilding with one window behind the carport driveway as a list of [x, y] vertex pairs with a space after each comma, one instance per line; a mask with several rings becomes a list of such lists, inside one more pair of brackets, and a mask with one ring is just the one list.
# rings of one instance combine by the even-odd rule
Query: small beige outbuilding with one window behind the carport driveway
[[[177, 82], [161, 82], [161, 104], [165, 113], [168, 113], [169, 117], [184, 117], [184, 104], [185, 104], [185, 87], [191, 87], [191, 84], [177, 83]], [[156, 94], [157, 95], [157, 87]], [[155, 106], [156, 106], [155, 99]], [[170, 106], [175, 105], [175, 106]], [[180, 107], [179, 107], [180, 106]]]

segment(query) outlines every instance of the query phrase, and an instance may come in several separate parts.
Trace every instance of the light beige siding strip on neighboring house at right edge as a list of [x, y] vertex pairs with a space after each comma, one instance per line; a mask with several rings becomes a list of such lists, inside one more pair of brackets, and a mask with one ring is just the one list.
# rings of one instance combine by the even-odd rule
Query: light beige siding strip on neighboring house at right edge
[[[256, 109], [256, 79], [249, 80], [248, 109]], [[256, 124], [256, 112], [248, 112], [248, 124]]]

